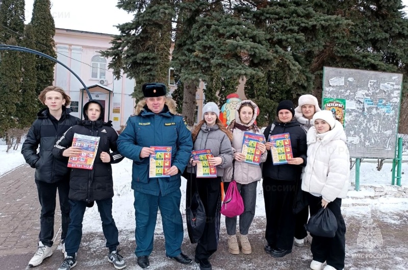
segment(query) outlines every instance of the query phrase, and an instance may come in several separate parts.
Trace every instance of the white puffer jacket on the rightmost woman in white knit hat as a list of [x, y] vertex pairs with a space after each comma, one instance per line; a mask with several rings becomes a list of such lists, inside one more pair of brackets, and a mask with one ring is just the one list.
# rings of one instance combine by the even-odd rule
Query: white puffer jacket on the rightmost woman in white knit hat
[[302, 175], [302, 190], [322, 195], [327, 202], [346, 198], [350, 177], [350, 155], [343, 126], [322, 134], [308, 131], [308, 162]]

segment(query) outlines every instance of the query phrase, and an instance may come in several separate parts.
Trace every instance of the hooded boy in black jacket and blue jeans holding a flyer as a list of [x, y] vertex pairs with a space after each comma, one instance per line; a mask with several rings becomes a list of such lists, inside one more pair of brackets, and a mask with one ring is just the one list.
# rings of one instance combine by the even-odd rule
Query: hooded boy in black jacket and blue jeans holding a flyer
[[[77, 157], [81, 153], [79, 146], [71, 146], [74, 134], [99, 137], [93, 168], [72, 168], [69, 182], [69, 203], [71, 204], [68, 234], [65, 239], [66, 257], [59, 269], [68, 270], [77, 264], [77, 251], [82, 238], [82, 220], [87, 205], [96, 201], [102, 229], [109, 249], [108, 260], [116, 269], [122, 269], [126, 263], [119, 255], [118, 229], [112, 217], [113, 179], [111, 163], [118, 163], [123, 156], [117, 151], [118, 134], [112, 128], [111, 121], [102, 121], [103, 106], [90, 101], [84, 106], [85, 120], [70, 128], [53, 149], [56, 158]], [[112, 153], [110, 152], [112, 151]]]

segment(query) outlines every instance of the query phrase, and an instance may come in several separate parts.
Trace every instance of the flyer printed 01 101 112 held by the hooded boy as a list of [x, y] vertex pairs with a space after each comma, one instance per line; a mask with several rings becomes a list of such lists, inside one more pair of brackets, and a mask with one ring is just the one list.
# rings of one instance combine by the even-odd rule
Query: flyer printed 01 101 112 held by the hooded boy
[[81, 154], [76, 157], [69, 157], [68, 167], [79, 169], [93, 169], [96, 152], [98, 151], [99, 137], [73, 134], [72, 146], [79, 146]]

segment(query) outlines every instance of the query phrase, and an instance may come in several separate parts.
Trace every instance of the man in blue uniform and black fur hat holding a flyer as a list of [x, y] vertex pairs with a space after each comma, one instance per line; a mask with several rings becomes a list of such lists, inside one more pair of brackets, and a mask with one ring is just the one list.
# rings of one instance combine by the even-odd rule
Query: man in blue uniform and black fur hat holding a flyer
[[[133, 160], [132, 189], [135, 196], [136, 250], [140, 267], [149, 266], [153, 250], [157, 210], [162, 215], [166, 256], [183, 264], [191, 259], [181, 251], [183, 219], [180, 212], [181, 173], [186, 167], [193, 142], [183, 117], [176, 114], [175, 102], [166, 97], [166, 86], [147, 83], [142, 87], [144, 100], [129, 117], [117, 144], [119, 152]], [[171, 167], [165, 178], [149, 178], [151, 146], [171, 146]]]

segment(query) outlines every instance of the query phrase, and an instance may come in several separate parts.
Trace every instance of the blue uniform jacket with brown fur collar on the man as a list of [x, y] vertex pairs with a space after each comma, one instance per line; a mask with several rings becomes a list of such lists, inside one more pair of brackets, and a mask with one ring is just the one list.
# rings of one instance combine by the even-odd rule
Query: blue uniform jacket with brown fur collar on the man
[[[151, 195], [166, 195], [180, 189], [181, 172], [190, 159], [193, 141], [183, 116], [176, 113], [175, 102], [166, 98], [163, 110], [154, 113], [143, 99], [135, 112], [127, 120], [117, 141], [120, 154], [133, 160], [132, 189]], [[149, 158], [141, 158], [140, 152], [143, 147], [150, 146], [171, 146], [171, 166], [175, 165], [179, 174], [168, 178], [149, 178]]]

